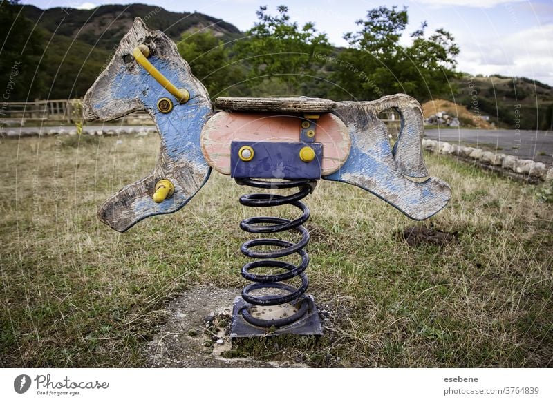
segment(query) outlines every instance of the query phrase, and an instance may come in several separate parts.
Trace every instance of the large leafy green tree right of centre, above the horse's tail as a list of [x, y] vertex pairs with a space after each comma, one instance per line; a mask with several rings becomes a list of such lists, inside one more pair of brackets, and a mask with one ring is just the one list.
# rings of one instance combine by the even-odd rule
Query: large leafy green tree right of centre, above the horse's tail
[[411, 34], [412, 44], [402, 46], [408, 22], [407, 9], [397, 6], [374, 8], [365, 20], [356, 21], [361, 28], [344, 35], [350, 48], [341, 53], [332, 75], [341, 87], [337, 95], [371, 100], [399, 92], [424, 101], [447, 93], [459, 53], [453, 36], [438, 29], [427, 37], [424, 22]]

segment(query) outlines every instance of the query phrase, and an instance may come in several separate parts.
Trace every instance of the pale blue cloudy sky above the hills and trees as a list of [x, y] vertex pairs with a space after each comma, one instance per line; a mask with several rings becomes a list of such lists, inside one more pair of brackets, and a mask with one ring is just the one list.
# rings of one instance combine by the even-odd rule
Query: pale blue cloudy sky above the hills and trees
[[[344, 32], [356, 30], [355, 21], [378, 6], [406, 6], [409, 26], [402, 37], [427, 21], [427, 32], [445, 28], [460, 46], [458, 70], [472, 75], [501, 74], [537, 79], [553, 85], [553, 0], [142, 0], [177, 12], [202, 12], [223, 19], [240, 30], [251, 28], [259, 6], [275, 13], [280, 4], [288, 6], [290, 19], [312, 21], [330, 42], [346, 46]], [[102, 4], [128, 4], [118, 0], [23, 0], [39, 8], [94, 8]]]

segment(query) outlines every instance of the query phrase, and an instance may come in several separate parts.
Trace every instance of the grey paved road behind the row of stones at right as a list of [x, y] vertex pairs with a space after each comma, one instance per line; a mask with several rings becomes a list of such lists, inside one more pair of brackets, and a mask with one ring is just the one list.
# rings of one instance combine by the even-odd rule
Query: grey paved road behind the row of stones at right
[[474, 130], [444, 128], [424, 130], [432, 140], [451, 144], [467, 144], [478, 148], [507, 153], [536, 162], [553, 162], [553, 133], [526, 130]]

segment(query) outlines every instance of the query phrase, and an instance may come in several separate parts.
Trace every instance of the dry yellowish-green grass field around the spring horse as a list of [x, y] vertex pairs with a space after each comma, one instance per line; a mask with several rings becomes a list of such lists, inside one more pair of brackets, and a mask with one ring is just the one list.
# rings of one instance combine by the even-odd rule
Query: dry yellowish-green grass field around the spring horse
[[[97, 220], [156, 159], [156, 136], [120, 140], [1, 140], [2, 366], [142, 366], [167, 300], [245, 284], [238, 249], [250, 235], [238, 221], [257, 213], [238, 204], [247, 189], [218, 173], [184, 209], [127, 233]], [[553, 365], [552, 204], [534, 186], [426, 160], [453, 199], [423, 223], [353, 186], [319, 183], [306, 199], [308, 275], [332, 313], [326, 334], [256, 339], [236, 355], [323, 367]], [[412, 247], [402, 231], [415, 224], [455, 240]]]

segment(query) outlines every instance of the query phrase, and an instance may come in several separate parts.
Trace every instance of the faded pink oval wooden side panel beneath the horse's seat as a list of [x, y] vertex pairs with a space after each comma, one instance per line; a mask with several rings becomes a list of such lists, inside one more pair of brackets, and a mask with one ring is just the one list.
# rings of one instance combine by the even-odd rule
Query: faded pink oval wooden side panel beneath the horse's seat
[[[348, 128], [332, 113], [314, 120], [315, 142], [323, 144], [321, 175], [337, 171], [350, 152]], [[216, 113], [202, 130], [202, 153], [207, 163], [223, 175], [230, 175], [232, 141], [299, 141], [301, 117], [274, 113]]]

